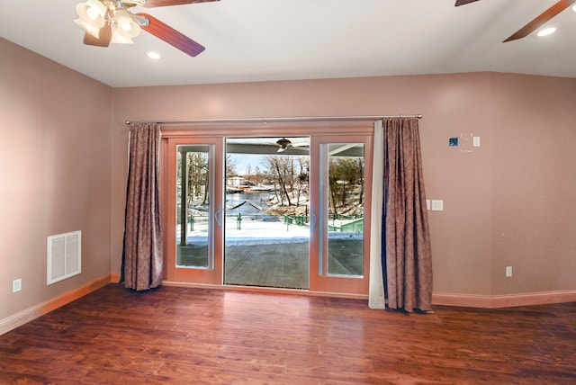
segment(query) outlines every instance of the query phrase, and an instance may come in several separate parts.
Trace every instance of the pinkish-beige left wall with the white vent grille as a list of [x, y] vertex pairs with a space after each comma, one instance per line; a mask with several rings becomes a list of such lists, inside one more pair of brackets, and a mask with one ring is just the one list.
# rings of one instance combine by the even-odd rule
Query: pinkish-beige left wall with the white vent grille
[[[2, 320], [110, 273], [112, 88], [4, 39], [0, 52]], [[47, 286], [46, 237], [75, 230], [82, 273]]]

